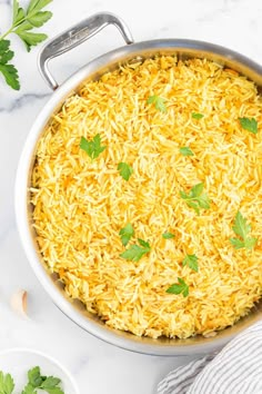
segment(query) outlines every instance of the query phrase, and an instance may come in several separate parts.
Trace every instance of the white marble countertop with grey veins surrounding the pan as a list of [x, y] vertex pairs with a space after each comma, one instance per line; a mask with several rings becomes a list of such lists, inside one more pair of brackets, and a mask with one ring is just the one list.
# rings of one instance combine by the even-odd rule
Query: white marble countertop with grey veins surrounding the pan
[[[0, 0], [0, 29], [9, 26], [11, 6]], [[23, 1], [22, 1], [23, 2]], [[26, 3], [26, 1], [23, 2]], [[262, 63], [261, 0], [56, 0], [53, 18], [42, 28], [50, 37], [84, 16], [115, 12], [130, 27], [135, 41], [155, 38], [193, 38], [226, 46]], [[85, 42], [51, 68], [61, 82], [90, 59], [123, 43], [113, 27]], [[13, 184], [19, 156], [38, 112], [51, 91], [37, 69], [39, 47], [27, 53], [12, 37], [21, 90], [0, 80], [0, 349], [26, 346], [49, 353], [74, 375], [83, 394], [150, 394], [172, 367], [191, 357], [153, 357], [125, 352], [83, 332], [50, 301], [34, 277], [22, 250], [13, 210]], [[29, 316], [10, 308], [18, 288], [29, 292]]]

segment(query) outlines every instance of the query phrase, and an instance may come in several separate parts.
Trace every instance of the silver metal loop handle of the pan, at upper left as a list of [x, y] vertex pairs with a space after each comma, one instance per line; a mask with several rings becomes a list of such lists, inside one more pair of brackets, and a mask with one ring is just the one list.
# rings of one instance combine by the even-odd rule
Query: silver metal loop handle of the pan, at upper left
[[132, 43], [133, 38], [129, 28], [122, 19], [110, 12], [95, 13], [63, 31], [50, 40], [41, 50], [38, 58], [38, 66], [41, 76], [51, 89], [56, 90], [59, 85], [49, 71], [48, 62], [70, 49], [78, 47], [90, 37], [97, 35], [108, 24], [114, 24], [123, 36], [127, 43]]

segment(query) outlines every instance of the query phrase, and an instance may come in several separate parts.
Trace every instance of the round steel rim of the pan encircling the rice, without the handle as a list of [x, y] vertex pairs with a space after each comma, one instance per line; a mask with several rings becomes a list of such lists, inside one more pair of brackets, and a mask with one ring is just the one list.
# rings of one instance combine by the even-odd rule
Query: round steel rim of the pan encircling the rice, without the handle
[[[26, 256], [37, 278], [42, 284], [44, 290], [52, 298], [53, 303], [62, 311], [71, 321], [77, 323], [80, 327], [97, 336], [98, 338], [108, 342], [118, 347], [150, 355], [174, 356], [174, 355], [188, 355], [189, 353], [203, 354], [212, 352], [243, 329], [243, 325], [248, 327], [250, 324], [255, 323], [261, 318], [261, 312], [253, 318], [250, 324], [239, 325], [238, 329], [231, 332], [230, 328], [223, 329], [216, 337], [203, 338], [203, 343], [192, 344], [189, 339], [167, 339], [164, 344], [159, 344], [159, 339], [151, 339], [150, 343], [145, 338], [135, 337], [133, 334], [124, 334], [121, 336], [118, 331], [107, 327], [104, 324], [87, 318], [87, 316], [79, 313], [75, 307], [70, 303], [66, 295], [56, 286], [51, 279], [50, 274], [44, 268], [39, 258], [36, 245], [33, 244], [31, 226], [29, 223], [28, 214], [28, 185], [29, 176], [31, 171], [32, 160], [34, 157], [34, 150], [37, 141], [43, 131], [51, 115], [58, 107], [62, 105], [64, 99], [69, 97], [74, 89], [78, 88], [82, 81], [89, 77], [97, 76], [108, 70], [110, 65], [117, 65], [127, 59], [135, 58], [137, 56], [144, 56], [144, 53], [153, 53], [159, 51], [171, 52], [195, 52], [201, 51], [202, 57], [215, 56], [220, 57], [229, 62], [240, 65], [243, 69], [250, 71], [250, 75], [258, 80], [259, 86], [262, 86], [262, 67], [249, 58], [236, 53], [230, 49], [208, 43], [204, 41], [194, 41], [188, 39], [160, 39], [141, 41], [129, 46], [120, 47], [115, 50], [107, 52], [99, 58], [90, 61], [83, 66], [79, 71], [69, 77], [52, 95], [52, 97], [44, 105], [36, 121], [33, 122], [31, 130], [26, 139], [26, 144], [20, 157], [20, 161], [17, 169], [17, 178], [14, 186], [14, 208], [16, 218], [20, 239], [26, 252]], [[259, 317], [260, 316], [260, 317]], [[234, 325], [234, 328], [236, 325]], [[177, 341], [177, 344], [175, 344]], [[178, 343], [180, 341], [180, 344]]]

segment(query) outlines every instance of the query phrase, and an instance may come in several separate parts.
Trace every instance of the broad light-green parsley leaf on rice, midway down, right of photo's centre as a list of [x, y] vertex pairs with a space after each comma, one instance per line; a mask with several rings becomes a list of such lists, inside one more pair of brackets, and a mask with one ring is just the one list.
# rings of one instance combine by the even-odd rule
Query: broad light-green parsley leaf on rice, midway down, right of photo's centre
[[187, 205], [193, 208], [196, 214], [200, 214], [200, 208], [209, 209], [210, 208], [210, 199], [205, 193], [203, 193], [204, 184], [200, 183], [192, 187], [189, 194], [185, 191], [180, 191], [181, 198], [183, 198]]

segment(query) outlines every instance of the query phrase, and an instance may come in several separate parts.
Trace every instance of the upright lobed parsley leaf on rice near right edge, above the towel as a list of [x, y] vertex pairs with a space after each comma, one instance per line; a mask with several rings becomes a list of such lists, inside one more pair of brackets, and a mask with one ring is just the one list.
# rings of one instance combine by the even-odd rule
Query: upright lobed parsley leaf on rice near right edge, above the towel
[[234, 225], [232, 229], [234, 234], [241, 238], [230, 238], [230, 243], [235, 249], [252, 249], [258, 243], [258, 238], [248, 237], [248, 234], [251, 232], [251, 225], [246, 224], [246, 219], [242, 216], [240, 211], [238, 211], [238, 214], [235, 215]]

